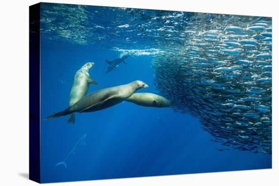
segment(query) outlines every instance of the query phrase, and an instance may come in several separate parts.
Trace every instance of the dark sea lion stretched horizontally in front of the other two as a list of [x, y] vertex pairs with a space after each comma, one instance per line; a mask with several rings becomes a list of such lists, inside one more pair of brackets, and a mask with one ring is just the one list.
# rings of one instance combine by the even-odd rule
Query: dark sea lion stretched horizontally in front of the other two
[[102, 110], [121, 103], [130, 97], [135, 91], [142, 88], [148, 88], [148, 85], [142, 81], [133, 81], [126, 85], [97, 90], [82, 97], [74, 105], [66, 108], [65, 110], [50, 115], [46, 118], [46, 120], [77, 112], [85, 113]]

